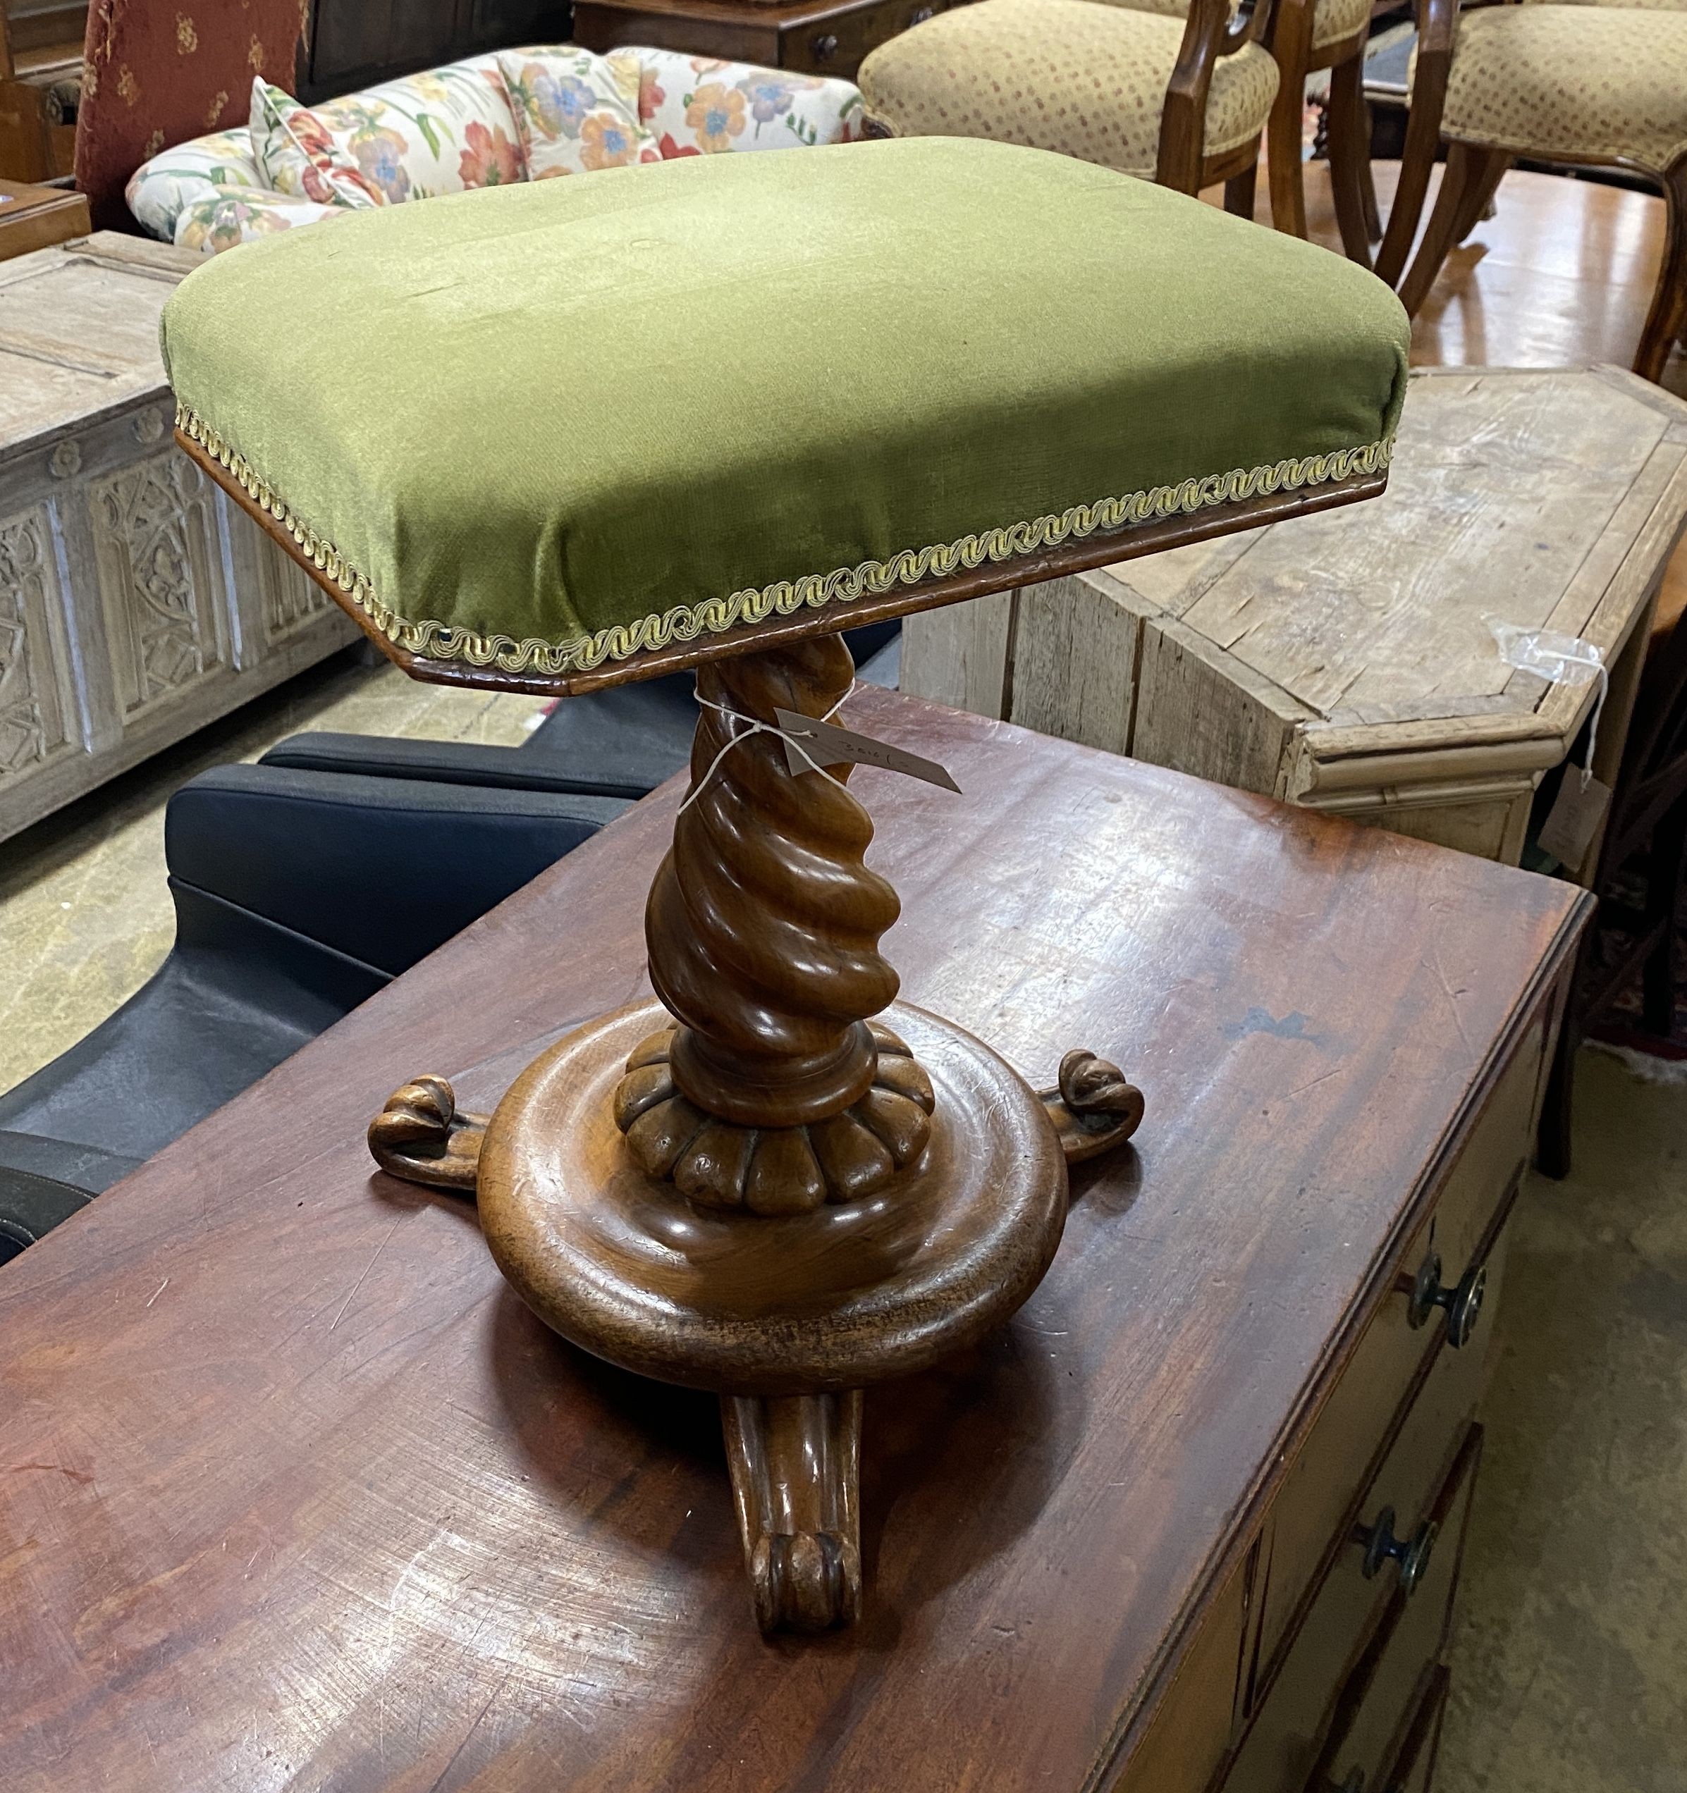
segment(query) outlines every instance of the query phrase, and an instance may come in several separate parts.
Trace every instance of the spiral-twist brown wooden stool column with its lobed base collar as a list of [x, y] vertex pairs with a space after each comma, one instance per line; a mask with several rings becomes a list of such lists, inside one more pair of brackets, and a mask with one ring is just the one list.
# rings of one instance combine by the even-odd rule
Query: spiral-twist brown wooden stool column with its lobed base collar
[[896, 995], [878, 936], [900, 905], [862, 862], [868, 812], [816, 773], [794, 776], [776, 735], [740, 739], [715, 766], [733, 723], [708, 705], [764, 723], [776, 708], [821, 717], [852, 678], [835, 637], [697, 676], [701, 791], [645, 909], [651, 981], [679, 1026], [631, 1054], [615, 1121], [642, 1169], [701, 1207], [853, 1201], [929, 1139], [930, 1079], [869, 1020]]

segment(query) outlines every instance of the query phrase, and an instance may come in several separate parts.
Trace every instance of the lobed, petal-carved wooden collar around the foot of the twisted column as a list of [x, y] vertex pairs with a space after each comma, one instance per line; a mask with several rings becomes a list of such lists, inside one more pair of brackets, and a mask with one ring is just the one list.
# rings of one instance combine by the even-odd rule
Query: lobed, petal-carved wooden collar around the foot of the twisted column
[[930, 1078], [907, 1045], [871, 1024], [878, 1065], [852, 1108], [794, 1128], [746, 1128], [705, 1113], [674, 1087], [674, 1029], [629, 1054], [615, 1090], [615, 1124], [645, 1176], [667, 1178], [703, 1208], [809, 1214], [826, 1201], [877, 1194], [930, 1139]]

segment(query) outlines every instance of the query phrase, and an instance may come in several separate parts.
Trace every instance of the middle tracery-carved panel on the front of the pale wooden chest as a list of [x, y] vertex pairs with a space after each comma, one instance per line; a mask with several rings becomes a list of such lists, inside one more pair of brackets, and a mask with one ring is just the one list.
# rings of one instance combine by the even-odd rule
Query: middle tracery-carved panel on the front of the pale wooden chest
[[228, 662], [204, 475], [169, 448], [88, 489], [111, 672], [125, 717]]

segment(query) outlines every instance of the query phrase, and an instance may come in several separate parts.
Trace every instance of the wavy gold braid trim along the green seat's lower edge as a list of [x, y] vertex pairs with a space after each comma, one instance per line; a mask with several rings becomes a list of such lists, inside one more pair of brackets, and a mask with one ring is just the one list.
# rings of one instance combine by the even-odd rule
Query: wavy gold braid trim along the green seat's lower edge
[[1038, 516], [1029, 524], [1009, 524], [1006, 529], [961, 536], [950, 543], [902, 549], [887, 561], [862, 561], [859, 567], [839, 567], [826, 574], [805, 574], [796, 581], [780, 579], [758, 592], [733, 592], [731, 597], [710, 597], [701, 604], [676, 604], [660, 615], [640, 617], [636, 622], [617, 622], [595, 635], [575, 635], [565, 642], [547, 642], [531, 635], [518, 642], [509, 635], [479, 635], [455, 622], [412, 622], [409, 617], [398, 615], [376, 597], [369, 581], [333, 543], [324, 541], [303, 524], [267, 481], [186, 405], [177, 403], [176, 427], [221, 466], [226, 466], [240, 489], [292, 534], [310, 565], [330, 577], [346, 599], [396, 647], [428, 660], [463, 660], [471, 667], [498, 667], [502, 672], [545, 676], [590, 672], [604, 660], [631, 660], [633, 654], [647, 653], [653, 647], [694, 642], [699, 635], [722, 635], [726, 629], [766, 622], [769, 617], [789, 617], [805, 606], [819, 610], [823, 604], [878, 597], [898, 585], [947, 579], [957, 572], [982, 567], [984, 561], [1018, 559], [1038, 549], [1081, 541], [1097, 531], [1113, 533], [1129, 529], [1133, 524], [1187, 516], [1216, 504], [1241, 504], [1276, 491], [1300, 491], [1303, 486], [1327, 486], [1339, 479], [1380, 473], [1395, 446], [1389, 436], [1361, 448], [1337, 448], [1334, 454], [1307, 455], [1303, 461], [1276, 461], [1271, 466], [1208, 473], [1205, 479], [1185, 479], [1178, 486], [1133, 491], [1126, 498], [1074, 504], [1060, 516]]

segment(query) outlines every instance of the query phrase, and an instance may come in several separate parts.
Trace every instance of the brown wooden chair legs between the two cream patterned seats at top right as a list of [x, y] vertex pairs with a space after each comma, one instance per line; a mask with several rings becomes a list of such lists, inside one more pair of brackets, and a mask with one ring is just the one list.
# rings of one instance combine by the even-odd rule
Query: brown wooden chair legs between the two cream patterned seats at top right
[[1266, 127], [1271, 179], [1271, 222], [1291, 237], [1307, 235], [1307, 194], [1302, 179], [1300, 133], [1307, 75], [1330, 70], [1325, 140], [1341, 247], [1361, 267], [1371, 265], [1377, 201], [1371, 190], [1370, 120], [1364, 109], [1364, 45], [1370, 20], [1321, 47], [1312, 45], [1318, 0], [1276, 0], [1267, 45], [1280, 81]]

